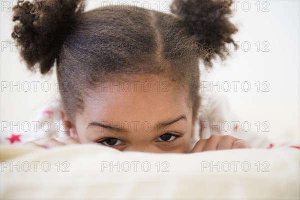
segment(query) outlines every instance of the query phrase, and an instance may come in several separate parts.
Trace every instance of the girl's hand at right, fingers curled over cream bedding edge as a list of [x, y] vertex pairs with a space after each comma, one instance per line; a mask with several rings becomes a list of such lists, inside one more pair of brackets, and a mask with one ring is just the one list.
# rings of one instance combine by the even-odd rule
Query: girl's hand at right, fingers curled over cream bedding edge
[[251, 148], [248, 142], [237, 139], [230, 135], [211, 135], [208, 139], [200, 139], [197, 141], [193, 149], [190, 151], [202, 152], [211, 150], [223, 150], [233, 148]]

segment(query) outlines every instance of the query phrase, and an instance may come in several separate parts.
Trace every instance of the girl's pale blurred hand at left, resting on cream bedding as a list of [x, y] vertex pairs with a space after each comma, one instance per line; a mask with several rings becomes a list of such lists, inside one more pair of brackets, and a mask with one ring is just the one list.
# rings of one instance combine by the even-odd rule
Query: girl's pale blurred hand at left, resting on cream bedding
[[24, 143], [24, 146], [51, 148], [55, 146], [63, 146], [63, 145], [70, 145], [70, 144], [79, 144], [79, 142], [72, 137], [66, 136], [66, 137], [44, 138], [44, 139], [33, 140]]

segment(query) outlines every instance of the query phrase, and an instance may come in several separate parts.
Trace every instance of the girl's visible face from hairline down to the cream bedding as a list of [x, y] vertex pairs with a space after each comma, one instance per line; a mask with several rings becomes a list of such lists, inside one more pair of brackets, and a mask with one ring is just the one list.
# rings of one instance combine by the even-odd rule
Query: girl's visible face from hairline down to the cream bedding
[[187, 92], [157, 75], [99, 83], [75, 118], [69, 131], [80, 143], [155, 153], [184, 153], [191, 148]]

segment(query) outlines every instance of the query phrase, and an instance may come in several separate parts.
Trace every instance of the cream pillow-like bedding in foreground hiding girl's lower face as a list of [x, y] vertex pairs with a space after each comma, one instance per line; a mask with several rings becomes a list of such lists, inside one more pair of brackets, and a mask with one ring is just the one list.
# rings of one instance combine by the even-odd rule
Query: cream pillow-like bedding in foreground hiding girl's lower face
[[1, 199], [299, 199], [296, 148], [192, 154], [0, 147]]

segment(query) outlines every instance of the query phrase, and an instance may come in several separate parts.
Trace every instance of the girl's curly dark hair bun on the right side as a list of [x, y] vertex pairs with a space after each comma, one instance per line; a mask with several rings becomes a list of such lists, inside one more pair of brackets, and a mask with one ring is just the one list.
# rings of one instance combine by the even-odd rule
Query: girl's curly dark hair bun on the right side
[[228, 52], [227, 44], [237, 47], [231, 38], [237, 28], [229, 21], [232, 0], [173, 0], [171, 13], [182, 19], [187, 31], [198, 37], [200, 46], [204, 45], [209, 53], [203, 58], [211, 66], [211, 59], [217, 55], [224, 59]]

